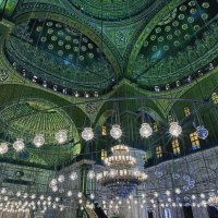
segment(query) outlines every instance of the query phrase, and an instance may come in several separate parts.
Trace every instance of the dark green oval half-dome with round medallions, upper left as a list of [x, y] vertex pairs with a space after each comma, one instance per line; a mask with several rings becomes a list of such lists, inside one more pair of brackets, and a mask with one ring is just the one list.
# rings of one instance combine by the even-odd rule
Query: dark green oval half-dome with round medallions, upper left
[[51, 20], [32, 19], [15, 26], [7, 41], [7, 56], [12, 63], [20, 62], [17, 69], [25, 69], [26, 76], [36, 76], [41, 84], [46, 81], [47, 86], [104, 90], [116, 81], [99, 46], [80, 31]]

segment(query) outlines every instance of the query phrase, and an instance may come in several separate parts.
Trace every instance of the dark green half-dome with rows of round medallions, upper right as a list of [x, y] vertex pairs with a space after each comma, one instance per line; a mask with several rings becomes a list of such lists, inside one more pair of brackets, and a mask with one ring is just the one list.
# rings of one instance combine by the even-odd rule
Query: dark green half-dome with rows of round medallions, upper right
[[[216, 1], [185, 1], [140, 38], [132, 78], [143, 87], [185, 80], [217, 59]], [[174, 83], [174, 84], [173, 84]]]

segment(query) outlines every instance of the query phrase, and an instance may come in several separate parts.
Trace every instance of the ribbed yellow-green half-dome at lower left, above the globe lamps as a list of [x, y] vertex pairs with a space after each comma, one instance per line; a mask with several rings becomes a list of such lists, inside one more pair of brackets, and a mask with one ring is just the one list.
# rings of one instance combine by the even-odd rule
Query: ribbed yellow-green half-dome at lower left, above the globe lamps
[[56, 144], [55, 135], [59, 130], [68, 130], [68, 142], [76, 141], [76, 129], [70, 117], [51, 102], [29, 99], [14, 102], [0, 110], [0, 123], [12, 140], [24, 138], [33, 143], [36, 134], [44, 134], [46, 144]]

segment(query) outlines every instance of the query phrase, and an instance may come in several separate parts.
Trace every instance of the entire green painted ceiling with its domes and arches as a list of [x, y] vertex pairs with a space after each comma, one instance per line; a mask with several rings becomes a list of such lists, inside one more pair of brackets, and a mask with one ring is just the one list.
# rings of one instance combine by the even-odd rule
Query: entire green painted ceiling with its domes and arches
[[[211, 92], [217, 8], [208, 0], [0, 0], [0, 140], [27, 144], [24, 154], [11, 147], [7, 158], [50, 167], [71, 161], [84, 150], [83, 128], [98, 131], [111, 116], [112, 98], [184, 97], [198, 88], [196, 76]], [[120, 109], [134, 120], [143, 107], [164, 122], [173, 104], [123, 100]], [[60, 129], [69, 132], [61, 147], [53, 141]], [[32, 144], [36, 133], [46, 136], [41, 149]]]

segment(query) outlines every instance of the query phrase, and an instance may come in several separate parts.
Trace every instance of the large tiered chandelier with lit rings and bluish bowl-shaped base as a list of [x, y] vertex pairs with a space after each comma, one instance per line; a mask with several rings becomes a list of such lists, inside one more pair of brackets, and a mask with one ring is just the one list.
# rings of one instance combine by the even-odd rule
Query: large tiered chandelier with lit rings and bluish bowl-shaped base
[[107, 169], [97, 173], [96, 179], [116, 196], [125, 198], [147, 179], [147, 174], [136, 168], [136, 160], [128, 146], [116, 145], [111, 152], [112, 155], [105, 159]]

